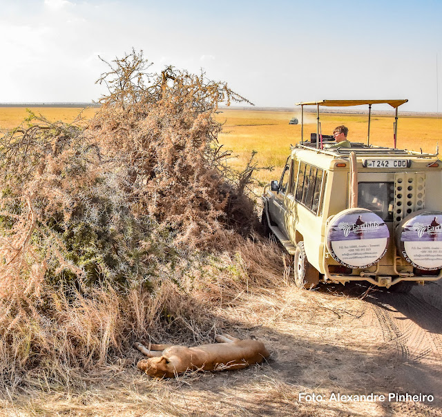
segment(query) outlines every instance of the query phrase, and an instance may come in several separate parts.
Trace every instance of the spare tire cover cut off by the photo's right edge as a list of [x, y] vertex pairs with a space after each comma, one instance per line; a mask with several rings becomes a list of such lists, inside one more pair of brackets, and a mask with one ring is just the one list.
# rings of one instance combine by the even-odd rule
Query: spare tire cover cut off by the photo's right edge
[[396, 228], [396, 245], [402, 257], [418, 269], [442, 268], [442, 213], [416, 211]]

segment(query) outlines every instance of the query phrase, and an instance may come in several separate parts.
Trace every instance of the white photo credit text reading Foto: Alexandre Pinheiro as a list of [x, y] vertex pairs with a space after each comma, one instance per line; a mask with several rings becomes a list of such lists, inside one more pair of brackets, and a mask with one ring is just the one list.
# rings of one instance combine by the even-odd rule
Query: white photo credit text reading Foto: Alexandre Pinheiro
[[322, 403], [322, 402], [336, 402], [336, 403], [405, 403], [407, 401], [413, 401], [414, 403], [432, 403], [434, 401], [434, 396], [432, 394], [409, 394], [390, 392], [388, 394], [340, 394], [338, 392], [332, 392], [332, 394], [320, 395], [315, 393], [300, 392], [298, 394], [298, 401], [300, 403]]

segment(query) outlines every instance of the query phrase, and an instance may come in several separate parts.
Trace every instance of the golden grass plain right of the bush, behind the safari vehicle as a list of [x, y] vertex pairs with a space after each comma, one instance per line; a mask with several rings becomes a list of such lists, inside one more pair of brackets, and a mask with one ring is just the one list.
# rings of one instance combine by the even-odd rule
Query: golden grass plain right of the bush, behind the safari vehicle
[[[285, 164], [290, 153], [290, 145], [300, 142], [301, 126], [289, 125], [291, 117], [298, 117], [296, 110], [236, 110], [222, 108], [217, 120], [224, 123], [224, 131], [218, 136], [224, 148], [231, 149], [231, 164], [237, 168], [244, 166], [251, 151], [258, 151], [256, 160], [260, 166], [275, 166], [276, 172], [260, 171], [258, 178], [263, 181], [277, 179], [278, 168]], [[316, 113], [305, 113], [307, 124], [304, 127], [304, 139], [310, 133], [316, 133]], [[320, 110], [320, 122], [323, 135], [332, 135], [333, 129], [345, 124], [349, 128], [351, 142], [367, 142], [367, 115], [325, 113]], [[393, 146], [394, 115], [372, 115], [370, 144]], [[419, 115], [401, 115], [398, 119], [398, 148], [434, 153], [436, 144], [442, 142], [442, 119]], [[442, 145], [442, 143], [439, 143]]]

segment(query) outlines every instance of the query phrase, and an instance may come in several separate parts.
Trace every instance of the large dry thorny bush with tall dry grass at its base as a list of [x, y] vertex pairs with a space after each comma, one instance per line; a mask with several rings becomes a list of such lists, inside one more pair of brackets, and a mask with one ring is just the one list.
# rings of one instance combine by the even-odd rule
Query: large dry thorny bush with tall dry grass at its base
[[93, 120], [30, 113], [1, 138], [3, 387], [75, 385], [135, 338], [207, 340], [214, 307], [280, 276], [250, 240], [256, 166], [232, 174], [216, 140], [218, 103], [244, 99], [142, 53], [108, 65]]

